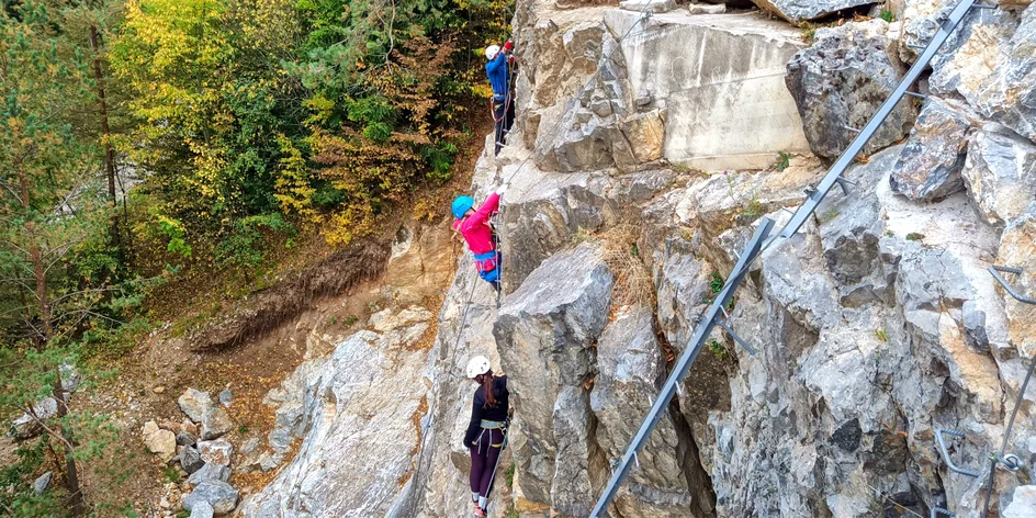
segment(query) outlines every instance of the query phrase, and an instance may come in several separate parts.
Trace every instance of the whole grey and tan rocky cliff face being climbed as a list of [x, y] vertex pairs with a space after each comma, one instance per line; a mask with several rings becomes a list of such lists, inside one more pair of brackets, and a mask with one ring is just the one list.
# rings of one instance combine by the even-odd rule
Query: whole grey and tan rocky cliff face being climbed
[[[853, 7], [807, 3], [782, 15]], [[503, 305], [465, 257], [430, 350], [406, 346], [428, 320], [413, 309], [307, 368], [303, 450], [246, 514], [463, 516], [462, 369], [486, 354], [516, 410], [491, 514], [588, 515], [754, 226], [787, 219], [948, 5], [906, 1], [905, 23], [806, 44], [754, 12], [519, 1], [517, 132], [473, 185], [511, 180]], [[1036, 354], [1036, 306], [987, 272], [1022, 268], [1011, 281], [1036, 293], [1034, 48], [1034, 7], [966, 19], [855, 185], [754, 264], [729, 312], [756, 353], [710, 337], [611, 516], [982, 516]], [[407, 393], [367, 414], [350, 405], [384, 398], [336, 388], [383, 376]], [[991, 514], [1036, 516], [1036, 390], [1021, 401], [1006, 451], [1022, 468], [995, 468]], [[980, 477], [948, 471], [938, 428], [965, 435], [950, 457]]]

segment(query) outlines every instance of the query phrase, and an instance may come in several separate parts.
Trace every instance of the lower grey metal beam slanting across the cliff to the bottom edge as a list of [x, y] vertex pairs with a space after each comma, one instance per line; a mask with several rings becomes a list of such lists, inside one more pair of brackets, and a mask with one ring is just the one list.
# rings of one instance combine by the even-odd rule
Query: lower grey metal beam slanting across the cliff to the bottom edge
[[619, 486], [622, 485], [622, 481], [626, 478], [626, 475], [629, 474], [631, 465], [639, 463], [637, 452], [648, 443], [648, 437], [651, 435], [651, 431], [654, 430], [655, 425], [658, 424], [658, 419], [662, 418], [662, 415], [669, 405], [669, 401], [678, 390], [680, 381], [687, 375], [690, 365], [694, 364], [698, 353], [701, 352], [701, 349], [705, 347], [705, 341], [709, 337], [709, 333], [712, 331], [712, 328], [716, 327], [717, 319], [723, 311], [723, 307], [725, 307], [734, 296], [734, 292], [737, 290], [741, 281], [748, 273], [748, 267], [755, 258], [758, 257], [759, 252], [762, 252], [763, 240], [766, 239], [773, 227], [773, 219], [764, 217], [759, 222], [758, 228], [755, 229], [755, 235], [752, 236], [752, 240], [745, 246], [741, 259], [727, 279], [727, 284], [723, 285], [723, 290], [721, 290], [712, 301], [709, 311], [695, 329], [695, 335], [687, 345], [687, 349], [680, 354], [679, 361], [677, 361], [676, 365], [673, 368], [673, 372], [669, 373], [669, 378], [665, 381], [665, 384], [662, 385], [658, 398], [655, 401], [654, 405], [651, 406], [648, 417], [644, 418], [640, 430], [633, 436], [633, 440], [622, 455], [622, 460], [619, 462], [615, 473], [611, 474], [611, 480], [608, 481], [605, 492], [600, 495], [597, 505], [594, 506], [594, 510], [590, 513], [593, 518], [600, 518], [605, 515], [608, 505], [615, 499], [616, 494], [618, 494]]

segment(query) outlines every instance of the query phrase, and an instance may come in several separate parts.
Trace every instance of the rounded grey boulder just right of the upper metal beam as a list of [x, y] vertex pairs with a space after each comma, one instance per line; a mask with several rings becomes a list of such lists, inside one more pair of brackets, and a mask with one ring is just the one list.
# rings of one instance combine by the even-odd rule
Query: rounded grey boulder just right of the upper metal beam
[[902, 155], [892, 166], [892, 191], [919, 201], [942, 200], [962, 191], [960, 169], [970, 125], [960, 111], [928, 97]]

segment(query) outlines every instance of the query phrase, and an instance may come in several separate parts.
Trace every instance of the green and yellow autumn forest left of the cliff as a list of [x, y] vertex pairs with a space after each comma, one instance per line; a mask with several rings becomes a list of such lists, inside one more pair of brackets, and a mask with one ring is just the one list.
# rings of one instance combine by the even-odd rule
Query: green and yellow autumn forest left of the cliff
[[3, 0], [0, 515], [132, 515], [120, 430], [80, 402], [170, 306], [447, 182], [508, 8]]

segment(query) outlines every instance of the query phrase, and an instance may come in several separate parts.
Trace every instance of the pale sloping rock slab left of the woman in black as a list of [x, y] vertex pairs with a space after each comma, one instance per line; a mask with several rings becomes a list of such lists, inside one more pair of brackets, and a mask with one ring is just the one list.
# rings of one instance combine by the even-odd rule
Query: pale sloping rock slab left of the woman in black
[[[376, 313], [374, 330], [350, 336], [330, 357], [304, 363], [285, 381], [282, 407], [297, 407], [301, 421], [286, 437], [302, 444], [273, 482], [241, 504], [245, 516], [364, 517], [398, 505], [427, 404], [424, 391], [399, 392], [399, 380], [420, 386], [428, 351], [414, 345], [430, 319], [416, 306]], [[302, 437], [292, 436], [296, 431]]]

